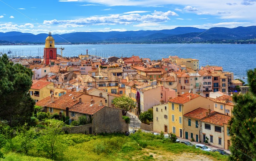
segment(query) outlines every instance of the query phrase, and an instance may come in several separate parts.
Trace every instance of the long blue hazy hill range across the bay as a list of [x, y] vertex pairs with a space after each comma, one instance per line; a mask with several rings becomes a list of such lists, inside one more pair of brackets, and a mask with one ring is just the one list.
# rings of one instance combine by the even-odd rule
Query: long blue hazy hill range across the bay
[[[44, 43], [48, 34], [0, 32], [0, 44]], [[199, 29], [178, 27], [172, 30], [126, 32], [74, 32], [53, 34], [55, 43], [254, 43], [256, 26]]]

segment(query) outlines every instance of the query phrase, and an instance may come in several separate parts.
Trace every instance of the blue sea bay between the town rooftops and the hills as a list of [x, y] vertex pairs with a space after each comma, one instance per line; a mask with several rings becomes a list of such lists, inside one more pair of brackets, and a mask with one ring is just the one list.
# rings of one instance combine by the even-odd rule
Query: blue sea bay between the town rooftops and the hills
[[[66, 57], [80, 54], [101, 57], [131, 57], [138, 55], [161, 60], [169, 55], [199, 60], [199, 66], [216, 65], [234, 73], [234, 78], [247, 82], [247, 70], [256, 68], [256, 44], [80, 44], [55, 45], [57, 53]], [[12, 51], [16, 56], [43, 56], [44, 45], [0, 46], [0, 53]], [[9, 56], [12, 56], [9, 55]]]

